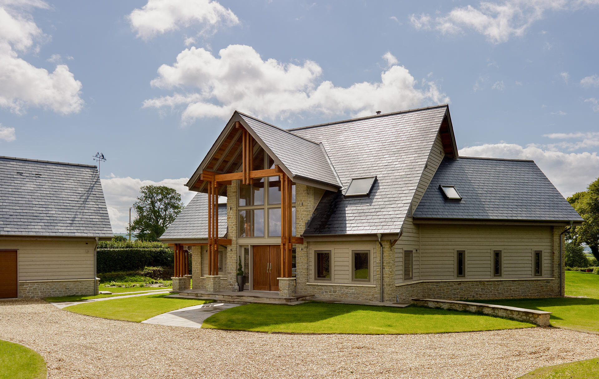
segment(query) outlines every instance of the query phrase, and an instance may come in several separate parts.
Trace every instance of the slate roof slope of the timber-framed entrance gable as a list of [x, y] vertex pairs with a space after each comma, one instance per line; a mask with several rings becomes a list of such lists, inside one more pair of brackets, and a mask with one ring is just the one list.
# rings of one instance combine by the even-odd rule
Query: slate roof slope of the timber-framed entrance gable
[[239, 115], [294, 176], [341, 186], [324, 149], [318, 143], [243, 113]]

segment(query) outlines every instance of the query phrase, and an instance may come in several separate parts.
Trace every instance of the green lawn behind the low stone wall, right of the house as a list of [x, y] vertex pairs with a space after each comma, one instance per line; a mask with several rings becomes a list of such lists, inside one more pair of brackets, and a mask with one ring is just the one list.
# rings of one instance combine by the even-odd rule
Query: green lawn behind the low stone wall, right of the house
[[550, 318], [552, 326], [599, 333], [599, 275], [566, 271], [565, 293], [571, 296], [588, 296], [588, 299], [555, 297], [549, 299], [479, 300], [477, 302], [553, 312]]

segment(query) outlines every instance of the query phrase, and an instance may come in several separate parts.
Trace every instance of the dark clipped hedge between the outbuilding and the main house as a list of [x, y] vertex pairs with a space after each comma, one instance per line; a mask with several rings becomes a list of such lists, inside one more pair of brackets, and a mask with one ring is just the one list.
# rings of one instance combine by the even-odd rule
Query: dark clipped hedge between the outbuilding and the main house
[[146, 266], [173, 267], [173, 250], [168, 248], [99, 248], [98, 272], [141, 270]]

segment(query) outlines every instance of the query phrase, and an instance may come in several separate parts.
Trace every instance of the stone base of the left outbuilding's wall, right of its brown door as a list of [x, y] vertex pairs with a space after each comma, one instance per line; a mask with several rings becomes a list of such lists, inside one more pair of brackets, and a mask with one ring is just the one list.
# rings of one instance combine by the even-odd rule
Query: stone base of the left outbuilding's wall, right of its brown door
[[93, 296], [98, 294], [100, 279], [78, 279], [65, 281], [20, 281], [19, 298], [55, 296]]

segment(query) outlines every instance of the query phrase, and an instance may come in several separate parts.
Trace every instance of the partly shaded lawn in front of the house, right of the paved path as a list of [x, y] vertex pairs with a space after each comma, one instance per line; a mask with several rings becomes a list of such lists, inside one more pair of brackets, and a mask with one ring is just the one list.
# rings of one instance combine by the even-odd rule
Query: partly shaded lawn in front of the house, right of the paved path
[[248, 304], [208, 317], [208, 329], [285, 333], [412, 334], [517, 329], [533, 324], [467, 312], [408, 306], [308, 302]]

